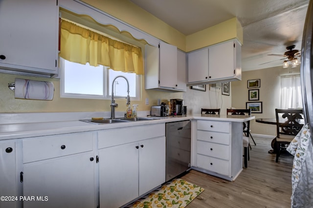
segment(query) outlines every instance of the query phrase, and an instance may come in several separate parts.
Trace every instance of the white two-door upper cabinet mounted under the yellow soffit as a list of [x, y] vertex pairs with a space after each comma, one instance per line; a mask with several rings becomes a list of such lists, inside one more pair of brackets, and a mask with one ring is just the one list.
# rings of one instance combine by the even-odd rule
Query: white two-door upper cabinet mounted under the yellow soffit
[[188, 84], [241, 80], [241, 44], [222, 42], [188, 54]]

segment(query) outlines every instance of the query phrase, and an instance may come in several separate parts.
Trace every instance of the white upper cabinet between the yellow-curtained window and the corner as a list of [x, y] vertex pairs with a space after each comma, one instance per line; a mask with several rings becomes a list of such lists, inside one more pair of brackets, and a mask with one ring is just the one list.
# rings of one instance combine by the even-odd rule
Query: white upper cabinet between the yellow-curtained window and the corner
[[[145, 47], [146, 89], [186, 91], [186, 55], [176, 46], [160, 42]], [[183, 74], [183, 75], [182, 75]]]

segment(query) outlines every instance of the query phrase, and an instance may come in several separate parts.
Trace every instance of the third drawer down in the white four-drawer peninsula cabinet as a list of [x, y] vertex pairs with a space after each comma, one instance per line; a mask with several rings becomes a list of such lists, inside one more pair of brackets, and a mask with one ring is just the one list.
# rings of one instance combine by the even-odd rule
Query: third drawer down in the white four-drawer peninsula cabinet
[[197, 141], [197, 148], [198, 154], [229, 160], [229, 146]]

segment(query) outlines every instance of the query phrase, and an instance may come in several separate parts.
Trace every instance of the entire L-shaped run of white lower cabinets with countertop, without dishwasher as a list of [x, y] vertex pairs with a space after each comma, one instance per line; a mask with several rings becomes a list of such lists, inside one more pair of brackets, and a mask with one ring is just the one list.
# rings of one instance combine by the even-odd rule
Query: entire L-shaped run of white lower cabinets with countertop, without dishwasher
[[[191, 168], [235, 180], [242, 171], [242, 123], [254, 119], [194, 114], [100, 125], [79, 121], [86, 119], [84, 113], [55, 114], [62, 119], [53, 113], [1, 115], [0, 148], [9, 176], [1, 180], [8, 191], [1, 194], [48, 196], [48, 201], [16, 202], [17, 207], [96, 207], [99, 201], [100, 207], [120, 207], [131, 202], [165, 182], [165, 123], [184, 120], [192, 122]], [[68, 120], [71, 116], [74, 120]], [[5, 124], [8, 117], [11, 124]], [[113, 197], [117, 192], [124, 201]]]

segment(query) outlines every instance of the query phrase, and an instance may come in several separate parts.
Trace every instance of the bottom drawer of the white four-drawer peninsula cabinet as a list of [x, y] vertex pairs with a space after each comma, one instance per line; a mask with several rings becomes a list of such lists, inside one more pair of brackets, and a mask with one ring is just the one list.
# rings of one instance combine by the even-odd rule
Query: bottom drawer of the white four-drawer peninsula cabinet
[[229, 176], [229, 161], [224, 161], [198, 154], [197, 166], [212, 172]]

